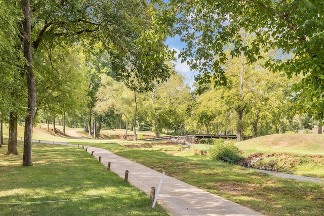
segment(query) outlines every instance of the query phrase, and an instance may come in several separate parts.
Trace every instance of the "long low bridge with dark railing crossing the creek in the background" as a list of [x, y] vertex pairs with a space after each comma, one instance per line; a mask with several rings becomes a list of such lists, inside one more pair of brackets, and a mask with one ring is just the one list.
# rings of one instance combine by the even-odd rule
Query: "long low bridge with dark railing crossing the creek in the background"
[[[251, 139], [251, 136], [244, 136], [243, 140]], [[154, 137], [154, 138], [146, 138], [146, 139], [139, 139], [138, 141], [158, 141], [158, 140], [185, 140], [189, 143], [195, 144], [198, 143], [200, 139], [232, 139], [237, 140], [236, 135], [179, 135], [179, 136], [163, 136], [163, 137]]]

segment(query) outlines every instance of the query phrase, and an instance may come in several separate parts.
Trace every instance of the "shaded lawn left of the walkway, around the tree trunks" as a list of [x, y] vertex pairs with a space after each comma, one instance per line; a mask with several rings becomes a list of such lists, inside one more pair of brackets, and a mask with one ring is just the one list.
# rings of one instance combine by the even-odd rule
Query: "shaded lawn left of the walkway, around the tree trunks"
[[[0, 205], [0, 215], [168, 215], [82, 148], [34, 144], [33, 166], [22, 167], [18, 147], [0, 148], [0, 204], [22, 204]], [[65, 201], [47, 202], [56, 200]]]

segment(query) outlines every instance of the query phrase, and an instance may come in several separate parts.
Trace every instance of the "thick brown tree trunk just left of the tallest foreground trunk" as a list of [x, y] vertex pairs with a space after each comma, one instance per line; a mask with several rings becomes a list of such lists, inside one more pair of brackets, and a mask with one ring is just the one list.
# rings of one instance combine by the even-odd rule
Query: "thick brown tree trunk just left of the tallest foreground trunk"
[[9, 138], [7, 154], [18, 154], [17, 150], [17, 113], [10, 112], [9, 116]]

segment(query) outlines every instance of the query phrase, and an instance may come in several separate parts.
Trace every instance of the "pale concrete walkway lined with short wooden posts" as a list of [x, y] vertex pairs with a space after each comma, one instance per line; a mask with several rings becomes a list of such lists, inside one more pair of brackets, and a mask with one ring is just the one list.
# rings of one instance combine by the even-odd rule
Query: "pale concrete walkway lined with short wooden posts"
[[[129, 170], [128, 181], [141, 191], [150, 195], [150, 188], [155, 187], [157, 192], [161, 173], [101, 148], [91, 146], [84, 148], [88, 148], [90, 154], [94, 151], [95, 158], [99, 159], [100, 156], [101, 163], [106, 167], [110, 162], [110, 170], [123, 179], [125, 171]], [[157, 202], [174, 216], [264, 215], [168, 176], [163, 179]]]

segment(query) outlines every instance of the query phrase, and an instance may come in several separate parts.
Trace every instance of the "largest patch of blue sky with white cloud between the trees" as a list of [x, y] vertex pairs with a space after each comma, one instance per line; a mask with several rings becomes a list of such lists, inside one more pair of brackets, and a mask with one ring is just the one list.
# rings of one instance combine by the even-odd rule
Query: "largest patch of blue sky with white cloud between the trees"
[[[186, 46], [184, 42], [180, 41], [180, 37], [176, 35], [175, 37], [168, 37], [166, 40], [166, 45], [169, 46], [169, 49], [176, 50], [179, 54], [179, 51]], [[194, 75], [197, 72], [190, 71], [189, 66], [186, 63], [181, 63], [181, 59], [178, 59], [178, 54], [176, 54], [177, 61], [176, 64], [176, 71], [186, 77], [186, 83], [192, 87], [192, 83], [194, 82]]]

